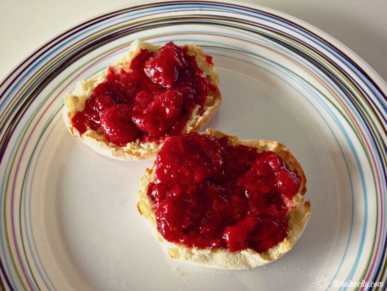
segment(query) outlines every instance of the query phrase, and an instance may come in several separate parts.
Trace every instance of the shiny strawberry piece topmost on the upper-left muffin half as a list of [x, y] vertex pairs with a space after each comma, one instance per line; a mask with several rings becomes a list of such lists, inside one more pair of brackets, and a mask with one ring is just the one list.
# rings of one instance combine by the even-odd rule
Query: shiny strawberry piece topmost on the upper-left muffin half
[[177, 81], [178, 70], [186, 64], [183, 48], [169, 42], [145, 62], [144, 71], [154, 83], [171, 87]]

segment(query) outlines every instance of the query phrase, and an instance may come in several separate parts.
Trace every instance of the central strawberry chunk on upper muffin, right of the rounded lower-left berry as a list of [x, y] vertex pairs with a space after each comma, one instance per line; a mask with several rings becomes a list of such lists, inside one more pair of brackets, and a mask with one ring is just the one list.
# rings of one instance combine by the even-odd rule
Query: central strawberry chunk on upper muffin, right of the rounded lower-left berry
[[151, 96], [151, 93], [142, 91], [135, 98], [133, 122], [151, 135], [164, 134], [179, 119], [182, 105], [183, 95], [180, 92], [168, 90]]

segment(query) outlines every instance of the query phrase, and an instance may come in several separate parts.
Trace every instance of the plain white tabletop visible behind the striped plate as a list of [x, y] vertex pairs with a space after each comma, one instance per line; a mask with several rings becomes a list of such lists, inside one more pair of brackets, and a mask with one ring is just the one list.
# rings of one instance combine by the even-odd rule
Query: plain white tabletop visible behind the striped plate
[[[112, 3], [113, 2], [113, 3]], [[2, 1], [0, 80], [51, 38], [133, 0]], [[348, 46], [387, 81], [386, 0], [245, 0], [301, 19]]]

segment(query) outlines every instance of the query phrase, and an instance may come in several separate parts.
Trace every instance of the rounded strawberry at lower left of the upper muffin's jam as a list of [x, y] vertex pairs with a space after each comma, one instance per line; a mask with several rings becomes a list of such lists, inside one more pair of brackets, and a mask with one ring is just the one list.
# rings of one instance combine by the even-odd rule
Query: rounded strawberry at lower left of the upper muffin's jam
[[113, 143], [125, 146], [140, 137], [141, 131], [134, 125], [126, 104], [115, 104], [101, 115], [101, 128]]

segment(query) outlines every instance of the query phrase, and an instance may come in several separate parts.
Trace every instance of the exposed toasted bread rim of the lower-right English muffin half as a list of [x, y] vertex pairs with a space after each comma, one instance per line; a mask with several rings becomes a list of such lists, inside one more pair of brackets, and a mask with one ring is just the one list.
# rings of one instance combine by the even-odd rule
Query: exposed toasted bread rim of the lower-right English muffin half
[[[221, 131], [207, 129], [202, 134], [211, 134], [216, 138], [228, 136], [229, 145], [246, 145], [257, 148], [258, 152], [271, 150], [279, 155], [289, 166], [291, 170], [297, 170], [301, 178], [301, 186], [293, 200], [288, 202], [289, 211], [286, 217], [289, 220], [288, 236], [278, 245], [270, 248], [264, 253], [257, 253], [252, 249], [246, 249], [232, 253], [224, 248], [187, 248], [182, 244], [174, 244], [166, 241], [156, 230], [158, 240], [163, 244], [166, 253], [174, 259], [205, 265], [208, 267], [221, 269], [248, 269], [265, 265], [282, 257], [286, 252], [291, 250], [293, 245], [300, 238], [310, 217], [310, 202], [303, 202], [303, 195], [307, 191], [306, 177], [303, 169], [292, 155], [292, 153], [281, 143], [268, 140], [241, 140], [237, 136], [227, 135]], [[155, 176], [155, 163], [152, 169], [147, 169], [141, 178], [141, 188], [137, 193], [137, 210], [140, 215], [149, 219], [151, 225], [156, 227], [155, 211], [152, 210], [153, 201], [147, 196], [149, 183], [153, 182]]]

